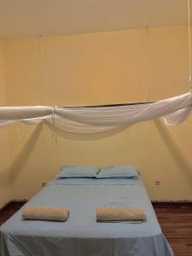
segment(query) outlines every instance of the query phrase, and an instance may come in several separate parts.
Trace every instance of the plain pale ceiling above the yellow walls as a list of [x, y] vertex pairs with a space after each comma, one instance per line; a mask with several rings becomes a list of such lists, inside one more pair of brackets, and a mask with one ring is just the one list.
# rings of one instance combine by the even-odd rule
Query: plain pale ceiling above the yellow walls
[[0, 0], [2, 38], [186, 23], [187, 0]]

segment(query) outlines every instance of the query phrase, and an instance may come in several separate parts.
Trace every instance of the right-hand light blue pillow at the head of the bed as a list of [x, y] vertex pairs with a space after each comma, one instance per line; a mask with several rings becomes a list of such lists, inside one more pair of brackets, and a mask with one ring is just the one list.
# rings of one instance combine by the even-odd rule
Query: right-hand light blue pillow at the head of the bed
[[101, 167], [97, 178], [103, 177], [136, 177], [137, 169], [133, 166], [105, 166]]

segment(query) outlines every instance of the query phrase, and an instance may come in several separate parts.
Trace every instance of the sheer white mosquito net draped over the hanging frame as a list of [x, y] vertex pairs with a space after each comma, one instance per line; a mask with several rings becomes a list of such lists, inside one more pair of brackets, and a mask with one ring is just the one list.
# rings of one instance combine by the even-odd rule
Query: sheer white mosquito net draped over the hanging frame
[[27, 125], [46, 121], [64, 131], [89, 134], [160, 117], [166, 125], [177, 125], [189, 117], [191, 106], [192, 94], [186, 93], [153, 103], [110, 107], [0, 107], [0, 128], [17, 121]]

